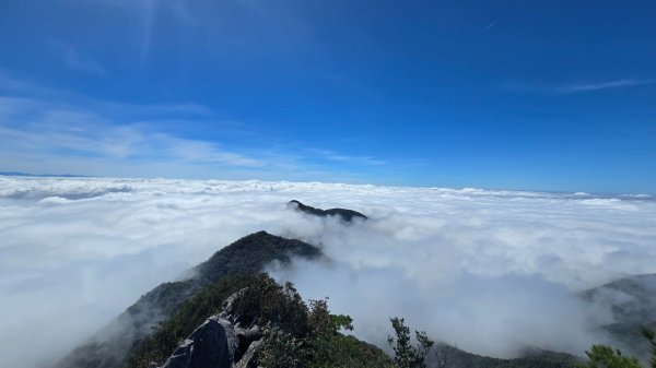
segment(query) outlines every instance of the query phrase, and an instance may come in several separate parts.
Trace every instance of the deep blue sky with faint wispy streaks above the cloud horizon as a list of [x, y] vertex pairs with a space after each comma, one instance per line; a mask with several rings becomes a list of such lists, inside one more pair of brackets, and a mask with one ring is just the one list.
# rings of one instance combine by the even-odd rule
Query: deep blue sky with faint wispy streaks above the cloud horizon
[[656, 193], [653, 1], [3, 0], [0, 170]]

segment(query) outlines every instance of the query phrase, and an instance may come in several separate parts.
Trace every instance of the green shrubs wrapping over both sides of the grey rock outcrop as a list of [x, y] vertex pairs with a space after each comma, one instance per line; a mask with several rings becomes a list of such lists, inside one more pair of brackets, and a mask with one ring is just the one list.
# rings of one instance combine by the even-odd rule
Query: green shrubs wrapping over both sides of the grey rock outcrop
[[184, 302], [147, 340], [130, 352], [126, 367], [162, 364], [208, 317], [221, 311], [242, 290], [232, 312], [243, 325], [263, 327], [260, 365], [267, 368], [394, 368], [374, 345], [341, 333], [352, 330], [348, 316], [330, 314], [327, 300], [303, 301], [291, 283], [277, 284], [266, 274], [225, 276]]

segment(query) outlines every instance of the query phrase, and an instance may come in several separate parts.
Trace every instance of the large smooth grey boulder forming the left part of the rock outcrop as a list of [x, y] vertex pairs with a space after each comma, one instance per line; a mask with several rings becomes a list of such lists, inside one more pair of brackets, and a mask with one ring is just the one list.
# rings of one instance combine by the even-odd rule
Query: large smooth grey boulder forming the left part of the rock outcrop
[[178, 346], [162, 368], [232, 368], [238, 344], [232, 323], [213, 316]]

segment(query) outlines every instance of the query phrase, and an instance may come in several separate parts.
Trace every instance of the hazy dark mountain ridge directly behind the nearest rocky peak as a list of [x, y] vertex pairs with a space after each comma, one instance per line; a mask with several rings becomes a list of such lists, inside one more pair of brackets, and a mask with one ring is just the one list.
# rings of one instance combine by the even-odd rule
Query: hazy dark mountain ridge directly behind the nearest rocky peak
[[89, 342], [65, 357], [58, 368], [116, 368], [126, 352], [150, 336], [190, 297], [224, 276], [259, 272], [272, 261], [289, 264], [291, 257], [319, 259], [321, 251], [300, 240], [259, 232], [248, 235], [214, 253], [194, 269], [195, 276], [164, 283], [143, 295]]

